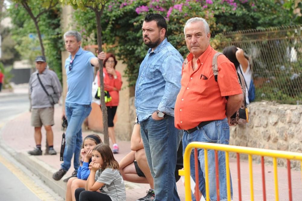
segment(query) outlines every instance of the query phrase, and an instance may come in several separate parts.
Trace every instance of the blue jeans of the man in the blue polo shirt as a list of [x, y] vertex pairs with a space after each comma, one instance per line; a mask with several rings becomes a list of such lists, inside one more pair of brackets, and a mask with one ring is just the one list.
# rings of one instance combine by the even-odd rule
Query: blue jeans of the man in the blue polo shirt
[[73, 167], [76, 171], [79, 168], [79, 157], [82, 148], [82, 124], [90, 112], [91, 105], [79, 105], [76, 103], [65, 104], [68, 126], [66, 129], [66, 144], [63, 155], [64, 162], [61, 164], [63, 170], [69, 170], [73, 154]]

